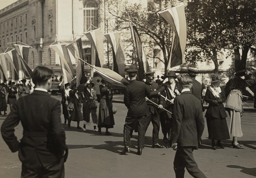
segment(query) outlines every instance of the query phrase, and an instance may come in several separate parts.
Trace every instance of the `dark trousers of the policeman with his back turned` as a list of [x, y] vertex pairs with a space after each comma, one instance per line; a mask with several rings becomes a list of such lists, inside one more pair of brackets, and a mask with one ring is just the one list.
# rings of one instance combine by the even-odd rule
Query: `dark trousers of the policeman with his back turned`
[[124, 146], [130, 146], [130, 132], [135, 122], [138, 124], [138, 148], [144, 148], [146, 115], [139, 117], [126, 117], [124, 123]]

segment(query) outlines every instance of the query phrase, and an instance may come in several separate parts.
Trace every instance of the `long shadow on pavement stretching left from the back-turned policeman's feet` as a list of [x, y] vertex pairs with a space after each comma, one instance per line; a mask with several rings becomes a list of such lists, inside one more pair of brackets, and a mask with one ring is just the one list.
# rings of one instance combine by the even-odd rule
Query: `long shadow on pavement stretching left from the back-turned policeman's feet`
[[[123, 141], [105, 141], [102, 145], [67, 145], [69, 149], [77, 149], [77, 148], [93, 148], [97, 150], [108, 150], [110, 152], [114, 152], [117, 154], [120, 154], [123, 150], [123, 147], [120, 147], [120, 145], [123, 145]], [[137, 141], [131, 140], [130, 141], [130, 148], [137, 149], [134, 145], [137, 145]], [[134, 152], [130, 150], [130, 153], [136, 154], [137, 152]]]

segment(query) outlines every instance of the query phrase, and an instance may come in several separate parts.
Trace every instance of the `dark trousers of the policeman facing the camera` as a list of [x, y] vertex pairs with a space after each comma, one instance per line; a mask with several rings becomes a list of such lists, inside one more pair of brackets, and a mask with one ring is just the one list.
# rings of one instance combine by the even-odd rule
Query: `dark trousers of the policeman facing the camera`
[[147, 114], [146, 121], [145, 121], [145, 133], [147, 132], [150, 122], [152, 122], [152, 125], [153, 125], [152, 139], [153, 139], [153, 145], [155, 145], [158, 143], [158, 138], [159, 138], [160, 115], [159, 114]]

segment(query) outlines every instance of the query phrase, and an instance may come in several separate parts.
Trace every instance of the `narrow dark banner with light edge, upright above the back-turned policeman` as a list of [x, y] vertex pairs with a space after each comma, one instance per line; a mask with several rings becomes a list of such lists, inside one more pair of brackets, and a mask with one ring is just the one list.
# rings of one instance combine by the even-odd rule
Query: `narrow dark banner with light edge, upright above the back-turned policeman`
[[150, 72], [150, 68], [148, 65], [147, 56], [142, 47], [141, 38], [139, 37], [139, 32], [135, 26], [131, 26], [132, 39], [135, 44], [136, 52], [137, 52], [137, 63], [138, 63], [138, 77], [139, 81], [142, 81], [145, 78], [144, 72]]

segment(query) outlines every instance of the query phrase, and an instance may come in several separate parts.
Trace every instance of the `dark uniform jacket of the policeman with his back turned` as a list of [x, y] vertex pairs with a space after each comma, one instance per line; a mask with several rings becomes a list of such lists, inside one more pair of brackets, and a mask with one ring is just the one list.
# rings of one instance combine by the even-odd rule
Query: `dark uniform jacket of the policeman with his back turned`
[[124, 89], [124, 104], [128, 108], [127, 117], [139, 117], [149, 114], [145, 96], [150, 95], [150, 88], [144, 82], [131, 80]]

